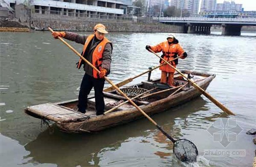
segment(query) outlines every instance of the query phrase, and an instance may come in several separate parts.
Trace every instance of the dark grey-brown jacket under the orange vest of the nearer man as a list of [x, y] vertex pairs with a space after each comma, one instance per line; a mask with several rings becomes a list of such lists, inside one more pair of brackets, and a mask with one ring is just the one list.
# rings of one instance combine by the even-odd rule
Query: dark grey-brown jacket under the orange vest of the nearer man
[[[70, 33], [70, 32], [65, 32], [66, 36], [64, 37], [65, 39], [68, 39], [70, 41], [74, 41], [76, 43], [80, 43], [84, 45], [86, 42], [86, 39], [88, 38], [89, 35], [80, 35], [80, 34], [75, 34], [75, 33]], [[84, 53], [83, 57], [86, 58], [90, 63], [92, 63], [92, 54], [96, 46], [101, 42], [101, 40], [98, 40], [96, 37], [93, 38], [91, 44], [89, 43], [88, 49]], [[102, 68], [106, 69], [106, 73], [109, 73], [110, 71], [110, 64], [111, 64], [111, 56], [112, 56], [112, 44], [107, 43], [105, 45], [105, 48], [102, 53]], [[89, 66], [87, 63], [84, 63], [83, 66], [84, 71], [88, 75], [93, 76], [93, 68]]]

